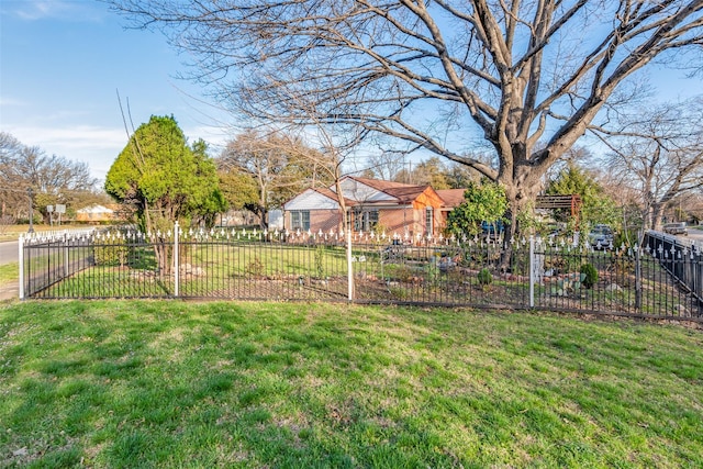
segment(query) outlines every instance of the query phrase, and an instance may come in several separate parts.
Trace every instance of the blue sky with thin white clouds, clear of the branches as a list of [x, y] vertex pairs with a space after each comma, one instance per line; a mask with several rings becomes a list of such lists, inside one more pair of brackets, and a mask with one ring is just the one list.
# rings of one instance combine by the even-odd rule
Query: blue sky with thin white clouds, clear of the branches
[[[191, 141], [219, 153], [226, 115], [174, 78], [185, 68], [163, 35], [124, 24], [94, 0], [0, 0], [0, 131], [104, 179], [127, 142], [119, 90], [135, 126], [172, 114]], [[701, 92], [700, 79], [683, 80], [681, 70], [651, 71], [662, 99]]]

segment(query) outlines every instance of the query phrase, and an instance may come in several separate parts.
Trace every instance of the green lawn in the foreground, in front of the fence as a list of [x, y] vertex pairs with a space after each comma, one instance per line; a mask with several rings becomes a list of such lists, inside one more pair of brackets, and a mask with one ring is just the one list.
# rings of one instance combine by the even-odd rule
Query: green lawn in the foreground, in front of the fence
[[703, 336], [528, 313], [0, 306], [5, 467], [701, 467]]

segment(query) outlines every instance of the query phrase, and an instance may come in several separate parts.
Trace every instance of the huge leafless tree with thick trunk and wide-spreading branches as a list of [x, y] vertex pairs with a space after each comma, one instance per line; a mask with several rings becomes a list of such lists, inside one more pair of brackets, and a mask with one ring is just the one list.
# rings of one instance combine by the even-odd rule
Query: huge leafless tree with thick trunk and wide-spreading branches
[[[192, 54], [189, 77], [233, 110], [473, 167], [505, 188], [511, 231], [627, 77], [677, 52], [698, 66], [703, 43], [703, 0], [109, 1]], [[495, 166], [466, 156], [471, 127]]]

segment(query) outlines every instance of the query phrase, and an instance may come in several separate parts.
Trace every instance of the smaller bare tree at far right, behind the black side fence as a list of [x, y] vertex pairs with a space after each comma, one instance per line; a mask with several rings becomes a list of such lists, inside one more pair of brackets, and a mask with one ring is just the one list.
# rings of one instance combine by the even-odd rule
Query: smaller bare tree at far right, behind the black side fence
[[598, 131], [611, 149], [611, 175], [637, 193], [644, 228], [660, 227], [676, 197], [703, 188], [702, 119], [699, 98], [621, 113], [613, 130]]

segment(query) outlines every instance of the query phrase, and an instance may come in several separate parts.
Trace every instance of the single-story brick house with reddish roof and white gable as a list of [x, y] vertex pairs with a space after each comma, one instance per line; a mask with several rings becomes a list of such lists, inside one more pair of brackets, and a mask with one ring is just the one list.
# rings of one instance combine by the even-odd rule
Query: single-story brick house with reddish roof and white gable
[[[438, 234], [449, 204], [429, 186], [413, 186], [346, 176], [339, 181], [354, 231], [382, 228], [401, 236]], [[460, 191], [461, 198], [464, 190]], [[459, 192], [447, 192], [451, 203]], [[459, 202], [460, 203], [460, 202]], [[456, 206], [456, 205], [453, 205]], [[342, 228], [339, 196], [335, 187], [310, 188], [283, 204], [287, 230], [317, 233]]]

